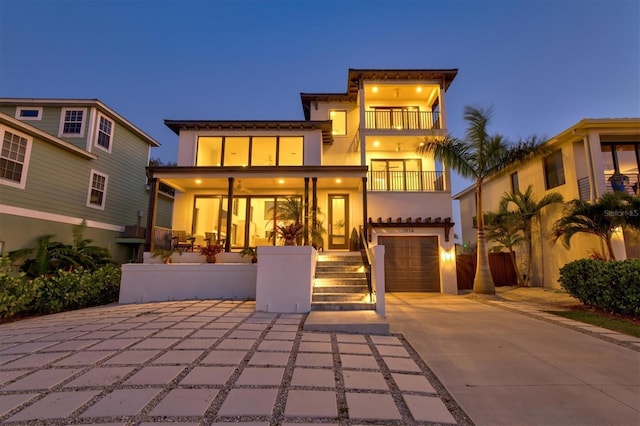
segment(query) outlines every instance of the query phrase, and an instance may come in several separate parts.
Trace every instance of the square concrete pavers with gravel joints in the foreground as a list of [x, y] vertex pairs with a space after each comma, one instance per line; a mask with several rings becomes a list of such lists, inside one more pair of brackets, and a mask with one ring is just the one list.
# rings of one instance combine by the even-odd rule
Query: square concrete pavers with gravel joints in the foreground
[[189, 301], [0, 325], [0, 423], [471, 424], [401, 336], [305, 317]]

